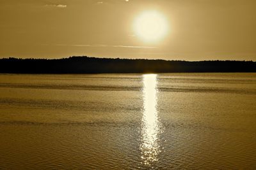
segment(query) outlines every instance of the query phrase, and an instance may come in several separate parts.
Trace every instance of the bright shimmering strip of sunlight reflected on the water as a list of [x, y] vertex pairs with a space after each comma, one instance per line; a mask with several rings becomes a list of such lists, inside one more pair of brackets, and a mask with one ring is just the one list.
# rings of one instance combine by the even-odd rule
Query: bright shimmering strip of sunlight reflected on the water
[[141, 129], [141, 159], [143, 160], [143, 164], [150, 165], [157, 161], [157, 155], [159, 153], [159, 130], [157, 115], [157, 74], [144, 74]]

